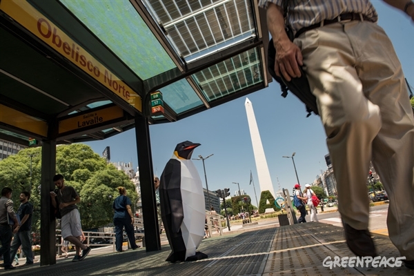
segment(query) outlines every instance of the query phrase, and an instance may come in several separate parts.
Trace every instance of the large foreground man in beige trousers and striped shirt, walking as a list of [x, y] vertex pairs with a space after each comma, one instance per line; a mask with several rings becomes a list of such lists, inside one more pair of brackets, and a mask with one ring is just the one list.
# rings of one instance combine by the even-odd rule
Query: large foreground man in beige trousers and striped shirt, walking
[[[390, 200], [389, 237], [414, 268], [414, 118], [393, 45], [368, 0], [288, 1], [291, 42], [286, 2], [259, 2], [267, 9], [275, 72], [290, 81], [304, 65], [326, 132], [346, 243], [357, 256], [377, 256], [368, 231], [372, 161]], [[414, 21], [411, 0], [384, 2]]]

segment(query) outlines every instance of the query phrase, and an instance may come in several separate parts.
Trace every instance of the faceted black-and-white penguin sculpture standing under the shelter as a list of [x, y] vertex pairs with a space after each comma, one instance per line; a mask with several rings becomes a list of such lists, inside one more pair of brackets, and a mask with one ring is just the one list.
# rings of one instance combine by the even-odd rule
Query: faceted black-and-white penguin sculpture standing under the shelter
[[206, 208], [199, 174], [191, 161], [193, 150], [200, 144], [184, 141], [162, 172], [159, 186], [161, 219], [172, 252], [167, 262], [204, 259], [196, 249], [204, 237]]

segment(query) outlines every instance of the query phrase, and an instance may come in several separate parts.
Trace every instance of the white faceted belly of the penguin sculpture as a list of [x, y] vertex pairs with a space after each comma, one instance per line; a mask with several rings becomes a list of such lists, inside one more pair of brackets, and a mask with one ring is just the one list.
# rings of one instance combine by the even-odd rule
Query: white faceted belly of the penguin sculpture
[[186, 245], [186, 258], [195, 255], [195, 250], [204, 237], [206, 204], [201, 179], [191, 160], [181, 161], [181, 200], [184, 219], [181, 233]]

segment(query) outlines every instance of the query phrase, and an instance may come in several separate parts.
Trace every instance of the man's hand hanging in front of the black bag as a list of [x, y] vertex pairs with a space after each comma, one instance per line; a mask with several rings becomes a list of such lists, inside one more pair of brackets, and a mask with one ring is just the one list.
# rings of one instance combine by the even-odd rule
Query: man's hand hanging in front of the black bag
[[299, 47], [289, 39], [275, 39], [273, 43], [276, 49], [276, 75], [280, 77], [282, 74], [286, 81], [300, 77], [299, 66], [303, 65], [303, 57]]

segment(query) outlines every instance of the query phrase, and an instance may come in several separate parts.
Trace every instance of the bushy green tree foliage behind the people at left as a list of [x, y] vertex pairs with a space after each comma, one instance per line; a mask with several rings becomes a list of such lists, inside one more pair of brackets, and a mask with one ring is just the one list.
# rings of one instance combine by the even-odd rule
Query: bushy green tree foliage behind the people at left
[[[32, 159], [30, 179], [30, 156]], [[56, 152], [56, 173], [65, 177], [65, 184], [75, 188], [81, 197], [78, 204], [83, 230], [99, 228], [112, 222], [112, 202], [119, 196], [117, 187], [124, 186], [132, 204], [137, 200], [135, 186], [128, 176], [93, 152], [85, 144], [58, 146]], [[23, 190], [32, 194], [34, 206], [32, 231], [40, 232], [40, 183], [41, 148], [26, 148], [0, 161], [0, 190], [13, 190], [14, 208], [19, 208], [19, 195]], [[132, 206], [132, 208], [134, 208]]]

